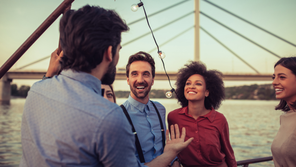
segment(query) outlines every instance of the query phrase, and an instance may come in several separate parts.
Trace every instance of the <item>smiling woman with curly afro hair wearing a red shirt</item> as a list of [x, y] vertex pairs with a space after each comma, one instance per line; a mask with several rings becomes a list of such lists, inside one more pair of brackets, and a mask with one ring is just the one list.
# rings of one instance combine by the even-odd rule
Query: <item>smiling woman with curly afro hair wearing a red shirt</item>
[[[189, 61], [178, 70], [176, 93], [182, 108], [168, 114], [168, 126], [185, 127], [194, 140], [178, 154], [184, 167], [236, 167], [223, 114], [216, 111], [225, 98], [223, 74], [207, 70], [202, 62]], [[174, 135], [174, 132], [170, 132]]]

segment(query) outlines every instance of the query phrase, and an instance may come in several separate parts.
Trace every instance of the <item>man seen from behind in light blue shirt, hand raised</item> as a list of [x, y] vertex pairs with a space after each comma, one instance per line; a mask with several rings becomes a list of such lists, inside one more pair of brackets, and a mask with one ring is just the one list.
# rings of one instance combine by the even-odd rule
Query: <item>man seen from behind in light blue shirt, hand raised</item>
[[[128, 26], [112, 10], [84, 6], [60, 21], [63, 52], [52, 53], [49, 71], [31, 87], [22, 115], [21, 167], [141, 166], [135, 137], [122, 110], [104, 99], [101, 83], [111, 84]], [[62, 56], [63, 54], [63, 56]], [[63, 68], [60, 75], [59, 60]], [[55, 76], [53, 76], [55, 75]], [[190, 142], [169, 140], [165, 153], [149, 166], [167, 166]], [[178, 135], [177, 135], [178, 134]]]

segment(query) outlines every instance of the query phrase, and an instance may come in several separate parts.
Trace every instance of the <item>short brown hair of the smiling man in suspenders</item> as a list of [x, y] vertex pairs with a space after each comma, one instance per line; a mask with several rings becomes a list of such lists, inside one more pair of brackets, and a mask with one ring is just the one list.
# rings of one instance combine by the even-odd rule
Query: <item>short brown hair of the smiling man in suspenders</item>
[[126, 76], [128, 77], [129, 75], [129, 67], [131, 65], [132, 62], [135, 61], [144, 61], [144, 62], [148, 62], [151, 65], [151, 69], [152, 69], [152, 78], [155, 77], [155, 62], [154, 59], [152, 58], [152, 56], [146, 52], [138, 52], [135, 53], [133, 55], [131, 55], [128, 58], [128, 64], [126, 64]]

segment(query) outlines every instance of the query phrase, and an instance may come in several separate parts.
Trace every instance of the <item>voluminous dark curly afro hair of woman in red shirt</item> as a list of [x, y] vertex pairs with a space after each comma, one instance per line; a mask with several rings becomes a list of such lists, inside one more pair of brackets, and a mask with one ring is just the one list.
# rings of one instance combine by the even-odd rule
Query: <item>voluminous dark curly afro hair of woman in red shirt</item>
[[179, 98], [178, 102], [182, 107], [188, 106], [188, 100], [184, 95], [184, 88], [187, 79], [194, 74], [199, 74], [205, 79], [206, 89], [209, 90], [209, 96], [205, 98], [205, 108], [213, 107], [217, 110], [221, 102], [225, 99], [225, 88], [222, 80], [223, 73], [218, 70], [207, 70], [203, 62], [189, 61], [180, 70], [178, 70], [176, 85], [176, 93]]

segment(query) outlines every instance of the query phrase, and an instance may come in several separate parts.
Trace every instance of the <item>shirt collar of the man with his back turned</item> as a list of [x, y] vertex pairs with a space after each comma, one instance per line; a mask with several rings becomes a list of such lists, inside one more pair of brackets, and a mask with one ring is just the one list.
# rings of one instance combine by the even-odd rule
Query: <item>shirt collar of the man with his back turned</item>
[[102, 95], [102, 82], [94, 75], [72, 69], [62, 70], [61, 74], [81, 82], [83, 85], [93, 89], [97, 94]]

